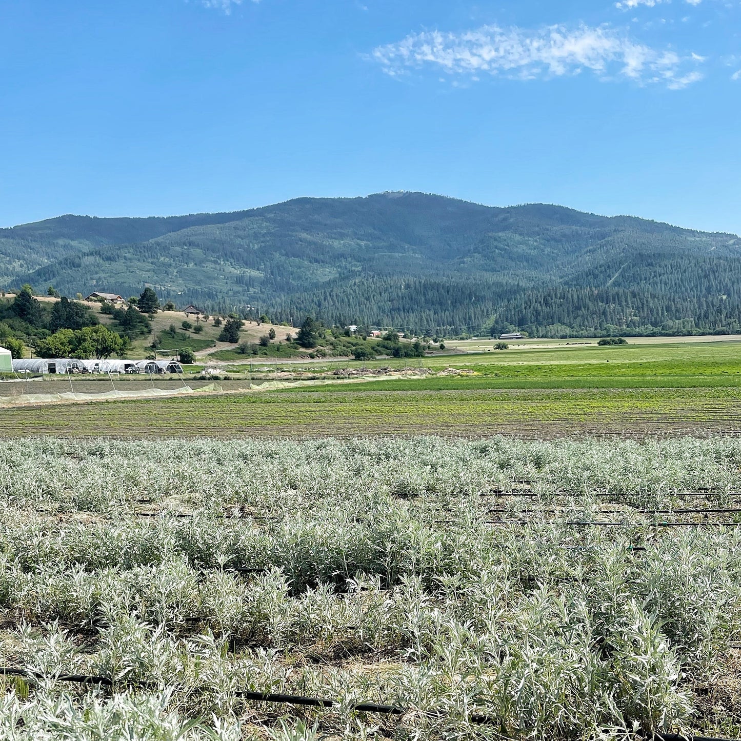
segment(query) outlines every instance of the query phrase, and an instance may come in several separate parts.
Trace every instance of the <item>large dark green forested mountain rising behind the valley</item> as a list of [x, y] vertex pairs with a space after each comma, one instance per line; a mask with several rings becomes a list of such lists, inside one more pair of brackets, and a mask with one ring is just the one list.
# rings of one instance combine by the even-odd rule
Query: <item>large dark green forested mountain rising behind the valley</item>
[[448, 336], [741, 330], [734, 235], [423, 193], [0, 230], [0, 285], [24, 282]]

